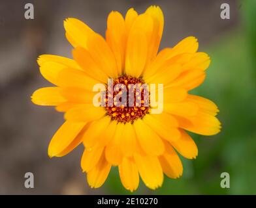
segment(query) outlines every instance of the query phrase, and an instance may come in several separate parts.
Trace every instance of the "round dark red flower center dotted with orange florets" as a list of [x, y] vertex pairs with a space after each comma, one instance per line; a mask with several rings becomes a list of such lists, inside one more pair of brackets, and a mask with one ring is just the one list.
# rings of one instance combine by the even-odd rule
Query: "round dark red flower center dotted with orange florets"
[[149, 112], [150, 96], [143, 79], [121, 75], [113, 80], [113, 86], [112, 94], [106, 94], [105, 107], [112, 120], [133, 123]]

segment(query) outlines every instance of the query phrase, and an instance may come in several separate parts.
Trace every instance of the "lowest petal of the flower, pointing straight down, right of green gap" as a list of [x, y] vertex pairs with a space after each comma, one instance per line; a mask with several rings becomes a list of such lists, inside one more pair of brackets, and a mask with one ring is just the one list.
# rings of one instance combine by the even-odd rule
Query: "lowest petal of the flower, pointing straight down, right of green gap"
[[133, 192], [138, 188], [140, 178], [138, 175], [138, 168], [133, 159], [124, 157], [121, 164], [118, 166], [119, 175], [123, 187]]

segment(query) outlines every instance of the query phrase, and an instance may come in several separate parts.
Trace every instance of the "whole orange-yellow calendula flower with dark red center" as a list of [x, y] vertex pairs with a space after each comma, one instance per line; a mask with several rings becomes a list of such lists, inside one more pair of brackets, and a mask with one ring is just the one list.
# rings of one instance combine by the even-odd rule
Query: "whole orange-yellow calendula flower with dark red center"
[[[197, 157], [197, 146], [187, 131], [200, 135], [220, 131], [217, 106], [189, 94], [204, 81], [210, 57], [197, 52], [199, 44], [193, 36], [159, 51], [163, 24], [158, 6], [140, 15], [131, 8], [125, 18], [110, 12], [104, 39], [82, 21], [68, 18], [64, 27], [74, 47], [73, 59], [57, 55], [38, 59], [40, 73], [56, 86], [36, 90], [33, 103], [65, 112], [65, 123], [53, 136], [48, 155], [61, 157], [83, 143], [81, 166], [90, 187], [101, 187], [112, 166], [118, 166], [121, 183], [128, 190], [138, 188], [139, 176], [147, 187], [160, 187], [164, 174], [182, 175], [176, 151], [187, 159]], [[131, 90], [135, 94], [129, 98], [134, 98], [135, 105], [117, 105], [115, 96], [123, 93], [109, 93], [109, 79], [113, 86], [120, 84], [127, 90], [130, 84], [156, 84], [156, 88], [150, 88], [148, 96], [141, 88], [139, 96]], [[95, 106], [99, 83], [106, 86], [106, 105]], [[162, 101], [153, 105], [152, 95], [160, 99], [161, 89]], [[146, 101], [150, 104], [143, 105]], [[159, 106], [162, 109], [153, 113]]]

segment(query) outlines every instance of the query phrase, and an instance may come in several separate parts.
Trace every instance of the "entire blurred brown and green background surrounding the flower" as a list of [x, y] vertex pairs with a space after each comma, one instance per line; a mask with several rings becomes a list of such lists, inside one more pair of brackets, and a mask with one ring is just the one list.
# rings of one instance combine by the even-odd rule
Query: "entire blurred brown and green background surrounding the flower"
[[[35, 19], [24, 18], [33, 3]], [[229, 3], [230, 19], [220, 18]], [[193, 135], [196, 160], [182, 159], [184, 175], [165, 178], [155, 191], [142, 181], [133, 194], [256, 194], [256, 1], [254, 0], [109, 0], [8, 1], [0, 3], [0, 194], [131, 194], [112, 168], [106, 183], [91, 189], [80, 169], [82, 146], [65, 157], [49, 159], [52, 135], [63, 123], [54, 107], [39, 107], [30, 96], [48, 86], [37, 66], [40, 54], [71, 57], [63, 19], [74, 17], [104, 35], [111, 10], [123, 15], [134, 7], [144, 12], [161, 6], [165, 29], [161, 48], [186, 36], [199, 38], [199, 51], [212, 58], [206, 81], [193, 93], [218, 105], [223, 129], [216, 136]], [[25, 172], [35, 175], [35, 188], [24, 187]], [[230, 188], [221, 188], [221, 173]]]

